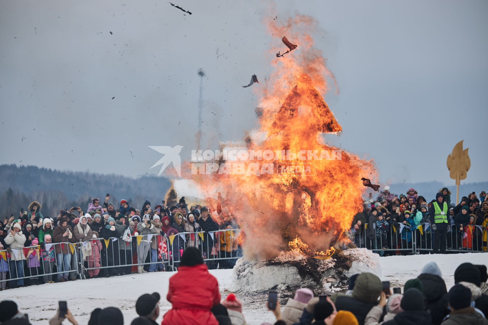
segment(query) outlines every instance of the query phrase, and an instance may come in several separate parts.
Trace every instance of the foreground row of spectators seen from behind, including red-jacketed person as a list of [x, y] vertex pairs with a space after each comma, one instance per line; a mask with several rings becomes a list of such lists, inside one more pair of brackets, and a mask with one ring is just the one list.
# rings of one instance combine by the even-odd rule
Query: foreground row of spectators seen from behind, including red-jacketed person
[[[189, 279], [198, 279], [199, 286], [189, 286]], [[463, 263], [454, 272], [454, 286], [447, 290], [440, 268], [430, 262], [417, 278], [406, 281], [403, 294], [401, 288], [392, 293], [376, 275], [366, 272], [351, 276], [346, 292], [328, 297], [315, 295], [315, 288], [299, 288], [283, 310], [279, 299], [267, 306], [276, 316], [275, 325], [488, 325], [487, 280], [485, 265]], [[172, 307], [161, 325], [247, 324], [242, 302], [234, 293], [222, 299], [217, 279], [194, 247], [183, 252], [178, 272], [169, 279], [166, 299]], [[158, 324], [160, 300], [157, 292], [140, 296], [135, 303], [139, 317], [130, 324]], [[69, 309], [58, 310], [49, 324], [61, 325], [64, 319], [79, 324]], [[29, 325], [29, 320], [7, 300], [0, 302], [0, 324]], [[88, 322], [123, 324], [122, 311], [112, 306], [96, 308]]]

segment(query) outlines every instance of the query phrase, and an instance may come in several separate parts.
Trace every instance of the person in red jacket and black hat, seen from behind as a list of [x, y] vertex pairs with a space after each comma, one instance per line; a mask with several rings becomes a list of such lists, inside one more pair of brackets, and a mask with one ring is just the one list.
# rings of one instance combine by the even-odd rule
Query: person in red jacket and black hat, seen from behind
[[[189, 284], [192, 279], [199, 279], [198, 286]], [[161, 325], [219, 325], [210, 310], [220, 304], [219, 283], [208, 273], [198, 249], [184, 250], [178, 273], [169, 278], [166, 299], [173, 307], [164, 314]]]

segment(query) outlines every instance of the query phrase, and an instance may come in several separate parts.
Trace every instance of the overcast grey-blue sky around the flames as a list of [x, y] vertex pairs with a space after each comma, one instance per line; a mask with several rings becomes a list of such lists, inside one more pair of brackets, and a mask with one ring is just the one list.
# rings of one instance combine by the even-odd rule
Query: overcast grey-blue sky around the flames
[[176, 4], [193, 14], [156, 1], [2, 0], [0, 164], [157, 174], [161, 154], [147, 146], [195, 149], [199, 68], [203, 147], [242, 139], [263, 82], [241, 86], [270, 73], [281, 38], [263, 17], [298, 11], [318, 20], [315, 45], [340, 89], [323, 94], [344, 130], [329, 143], [374, 157], [382, 182], [453, 184], [446, 158], [464, 139], [466, 181], [488, 179], [488, 1]]

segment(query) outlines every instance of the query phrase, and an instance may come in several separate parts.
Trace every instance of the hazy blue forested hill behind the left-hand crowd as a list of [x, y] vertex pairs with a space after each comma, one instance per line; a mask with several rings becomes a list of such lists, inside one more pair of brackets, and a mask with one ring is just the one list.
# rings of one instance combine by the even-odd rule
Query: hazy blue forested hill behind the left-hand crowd
[[60, 210], [79, 206], [86, 211], [92, 198], [106, 193], [116, 209], [122, 199], [141, 209], [144, 200], [153, 206], [161, 203], [171, 183], [167, 178], [144, 175], [137, 179], [121, 175], [88, 172], [60, 172], [35, 166], [0, 166], [0, 217], [18, 215], [36, 200], [42, 205], [44, 216], [56, 216]]

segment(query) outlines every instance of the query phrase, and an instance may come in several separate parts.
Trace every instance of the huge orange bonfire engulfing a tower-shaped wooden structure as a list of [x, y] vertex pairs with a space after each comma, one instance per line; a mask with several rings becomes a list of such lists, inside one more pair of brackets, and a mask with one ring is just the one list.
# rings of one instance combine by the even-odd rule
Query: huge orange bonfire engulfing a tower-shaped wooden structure
[[[261, 98], [256, 109], [260, 126], [246, 134], [245, 147], [275, 154], [271, 160], [220, 157], [215, 161], [220, 172], [193, 175], [193, 181], [208, 193], [217, 189], [219, 194], [209, 194], [207, 201], [242, 228], [247, 260], [273, 258], [288, 249], [327, 258], [338, 241], [346, 240], [354, 214], [362, 210], [361, 178], [376, 179], [376, 171], [372, 161], [325, 144], [324, 137], [340, 135], [342, 127], [321, 95], [328, 90], [327, 80], [335, 81], [313, 46], [316, 22], [296, 16], [281, 26], [272, 19], [266, 24], [276, 37], [270, 53], [283, 48], [282, 36], [299, 45], [284, 57], [270, 55], [274, 72], [264, 91], [254, 88]], [[245, 172], [236, 173], [239, 168], [232, 163], [243, 164], [239, 168]], [[272, 172], [263, 172], [265, 164], [272, 164]], [[286, 165], [293, 169], [281, 172]]]

